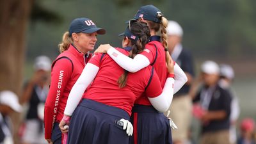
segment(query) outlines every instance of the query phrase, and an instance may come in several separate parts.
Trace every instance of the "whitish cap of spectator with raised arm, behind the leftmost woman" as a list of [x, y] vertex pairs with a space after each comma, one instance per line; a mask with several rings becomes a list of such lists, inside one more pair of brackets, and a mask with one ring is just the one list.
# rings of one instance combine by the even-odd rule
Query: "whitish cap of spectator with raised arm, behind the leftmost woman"
[[35, 59], [34, 68], [35, 70], [45, 70], [50, 71], [51, 70], [51, 59], [47, 56], [38, 56]]

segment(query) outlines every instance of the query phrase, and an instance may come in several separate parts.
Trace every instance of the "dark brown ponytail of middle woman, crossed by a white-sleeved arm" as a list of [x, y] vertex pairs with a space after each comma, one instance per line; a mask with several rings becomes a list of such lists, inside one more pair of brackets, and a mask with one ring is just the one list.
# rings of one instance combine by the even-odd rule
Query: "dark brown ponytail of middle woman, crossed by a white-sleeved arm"
[[[144, 22], [132, 22], [131, 24], [131, 32], [132, 34], [139, 37], [139, 40], [131, 40], [132, 51], [129, 54], [130, 58], [134, 58], [136, 54], [142, 52], [145, 49], [145, 45], [148, 43], [150, 38], [150, 30]], [[128, 71], [125, 70], [124, 74], [119, 77], [117, 83], [119, 84], [119, 88], [124, 88], [127, 83], [127, 75]]]

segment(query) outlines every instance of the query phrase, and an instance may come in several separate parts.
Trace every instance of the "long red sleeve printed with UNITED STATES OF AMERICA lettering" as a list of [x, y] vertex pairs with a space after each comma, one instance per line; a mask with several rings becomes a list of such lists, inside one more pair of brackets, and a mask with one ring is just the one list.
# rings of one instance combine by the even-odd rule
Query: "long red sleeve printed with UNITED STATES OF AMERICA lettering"
[[61, 58], [56, 61], [52, 68], [51, 85], [44, 109], [45, 139], [51, 139], [52, 126], [56, 120], [58, 111], [58, 102], [63, 96], [63, 91], [65, 90], [71, 74], [72, 63], [66, 58]]

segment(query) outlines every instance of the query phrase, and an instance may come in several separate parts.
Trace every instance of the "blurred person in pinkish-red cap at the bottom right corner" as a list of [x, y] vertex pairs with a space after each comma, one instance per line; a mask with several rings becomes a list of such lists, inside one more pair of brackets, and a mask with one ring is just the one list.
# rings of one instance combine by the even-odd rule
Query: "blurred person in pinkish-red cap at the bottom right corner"
[[255, 130], [255, 122], [252, 118], [244, 118], [240, 124], [241, 136], [237, 144], [255, 144], [253, 139], [253, 131]]

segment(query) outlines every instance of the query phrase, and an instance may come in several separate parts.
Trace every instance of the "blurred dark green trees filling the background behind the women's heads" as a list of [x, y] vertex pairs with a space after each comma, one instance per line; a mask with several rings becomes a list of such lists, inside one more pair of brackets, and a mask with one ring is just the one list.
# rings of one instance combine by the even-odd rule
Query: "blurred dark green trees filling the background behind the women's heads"
[[[120, 47], [117, 35], [124, 31], [125, 21], [132, 19], [140, 6], [156, 5], [164, 16], [176, 20], [184, 29], [183, 44], [195, 56], [241, 57], [256, 54], [255, 0], [93, 0], [38, 1], [38, 14], [46, 20], [58, 19], [58, 25], [37, 21], [28, 33], [28, 56], [58, 55], [57, 45], [72, 19], [88, 17], [107, 30], [97, 44]], [[47, 8], [47, 9], [45, 9]], [[38, 8], [36, 8], [38, 9]], [[51, 12], [58, 13], [51, 15]], [[36, 13], [35, 13], [36, 14]], [[61, 20], [61, 21], [59, 21]]]

